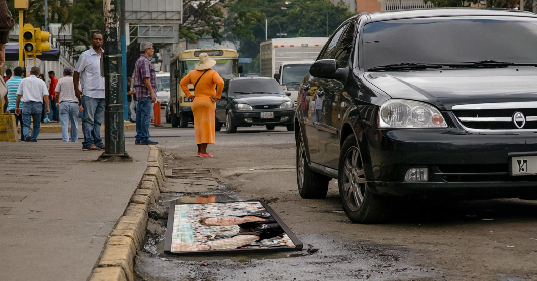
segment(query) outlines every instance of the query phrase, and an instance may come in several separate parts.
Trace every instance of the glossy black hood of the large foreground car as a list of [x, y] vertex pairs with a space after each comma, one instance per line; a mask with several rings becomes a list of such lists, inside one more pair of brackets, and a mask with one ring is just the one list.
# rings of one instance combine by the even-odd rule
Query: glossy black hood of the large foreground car
[[391, 98], [423, 101], [441, 110], [473, 103], [537, 100], [537, 68], [533, 66], [371, 72], [364, 77]]

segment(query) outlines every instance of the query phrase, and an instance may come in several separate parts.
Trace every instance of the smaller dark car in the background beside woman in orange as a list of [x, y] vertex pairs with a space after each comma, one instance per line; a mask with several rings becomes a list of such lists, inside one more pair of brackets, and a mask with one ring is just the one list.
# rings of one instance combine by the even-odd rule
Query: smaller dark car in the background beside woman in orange
[[294, 131], [295, 105], [289, 93], [268, 77], [241, 77], [226, 81], [222, 98], [216, 101], [216, 131], [226, 124], [228, 133], [237, 127], [264, 125], [273, 130], [286, 126]]

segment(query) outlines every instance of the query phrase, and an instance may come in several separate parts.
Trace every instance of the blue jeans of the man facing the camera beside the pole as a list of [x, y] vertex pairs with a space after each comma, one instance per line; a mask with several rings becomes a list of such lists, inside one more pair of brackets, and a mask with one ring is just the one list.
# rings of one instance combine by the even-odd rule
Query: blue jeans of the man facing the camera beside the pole
[[95, 99], [83, 95], [81, 100], [84, 108], [84, 117], [82, 118], [84, 141], [82, 142], [82, 147], [84, 149], [89, 149], [93, 145], [103, 147], [100, 128], [104, 121], [104, 99]]

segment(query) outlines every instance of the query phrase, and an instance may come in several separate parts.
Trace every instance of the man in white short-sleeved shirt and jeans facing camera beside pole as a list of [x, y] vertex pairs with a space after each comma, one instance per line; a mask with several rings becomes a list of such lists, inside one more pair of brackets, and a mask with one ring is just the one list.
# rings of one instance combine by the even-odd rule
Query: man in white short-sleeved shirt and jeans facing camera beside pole
[[[101, 125], [104, 121], [104, 77], [100, 75], [101, 56], [104, 55], [103, 35], [93, 33], [91, 35], [92, 48], [84, 51], [76, 63], [73, 75], [75, 93], [81, 97], [84, 115], [82, 118], [82, 142], [83, 151], [100, 151], [104, 149], [103, 140], [100, 137]], [[82, 85], [79, 90], [78, 82]]]

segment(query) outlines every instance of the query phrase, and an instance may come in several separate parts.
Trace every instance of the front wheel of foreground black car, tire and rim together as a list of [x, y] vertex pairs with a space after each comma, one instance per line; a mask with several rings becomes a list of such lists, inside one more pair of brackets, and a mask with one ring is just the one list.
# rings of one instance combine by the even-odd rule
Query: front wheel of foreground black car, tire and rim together
[[360, 149], [353, 134], [343, 143], [338, 171], [339, 196], [353, 223], [382, 223], [389, 217], [387, 198], [373, 194], [367, 187]]

